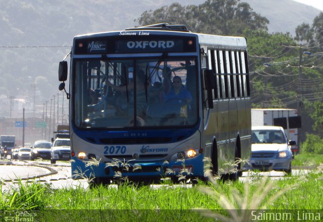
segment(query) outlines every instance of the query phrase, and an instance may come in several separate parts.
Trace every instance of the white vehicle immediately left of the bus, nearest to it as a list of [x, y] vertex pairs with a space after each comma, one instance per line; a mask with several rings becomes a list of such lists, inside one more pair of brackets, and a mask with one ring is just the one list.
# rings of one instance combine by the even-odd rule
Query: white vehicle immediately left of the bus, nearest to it
[[55, 164], [57, 160], [71, 159], [70, 139], [57, 138], [50, 148], [50, 163]]

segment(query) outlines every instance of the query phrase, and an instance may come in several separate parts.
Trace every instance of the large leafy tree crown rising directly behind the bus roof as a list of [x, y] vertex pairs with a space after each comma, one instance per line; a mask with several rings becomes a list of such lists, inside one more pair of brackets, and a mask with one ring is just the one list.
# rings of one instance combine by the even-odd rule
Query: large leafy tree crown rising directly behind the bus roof
[[269, 21], [240, 0], [207, 0], [199, 6], [174, 3], [154, 11], [145, 11], [135, 21], [140, 26], [167, 22], [185, 24], [194, 32], [242, 35], [245, 30], [267, 30]]

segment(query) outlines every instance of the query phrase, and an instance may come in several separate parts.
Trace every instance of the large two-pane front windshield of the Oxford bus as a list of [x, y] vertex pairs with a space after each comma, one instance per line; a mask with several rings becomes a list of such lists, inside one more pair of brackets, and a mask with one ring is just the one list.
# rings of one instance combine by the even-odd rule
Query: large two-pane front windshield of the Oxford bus
[[80, 128], [185, 127], [197, 121], [196, 58], [75, 60]]

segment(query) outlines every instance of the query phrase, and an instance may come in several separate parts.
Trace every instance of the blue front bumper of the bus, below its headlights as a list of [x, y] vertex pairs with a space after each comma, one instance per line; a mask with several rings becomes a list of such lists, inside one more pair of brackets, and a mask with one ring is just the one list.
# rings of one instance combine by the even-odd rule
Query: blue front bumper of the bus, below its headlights
[[189, 177], [203, 177], [203, 155], [185, 159], [185, 161], [146, 161], [146, 162], [98, 162], [96, 165], [89, 164], [78, 158], [72, 158], [72, 178], [92, 179], [118, 177], [147, 178], [147, 177], [169, 177], [187, 175]]

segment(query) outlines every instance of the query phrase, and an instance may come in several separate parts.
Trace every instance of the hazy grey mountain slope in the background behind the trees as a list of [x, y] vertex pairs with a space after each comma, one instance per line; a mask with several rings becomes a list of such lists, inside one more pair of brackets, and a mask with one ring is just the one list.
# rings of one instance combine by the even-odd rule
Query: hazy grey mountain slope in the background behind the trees
[[[19, 101], [26, 101], [28, 111], [33, 110], [28, 108], [31, 101], [41, 105], [58, 93], [58, 63], [71, 51], [75, 35], [134, 27], [138, 25], [134, 19], [144, 11], [173, 2], [199, 5], [205, 1], [0, 0], [0, 116], [8, 116], [8, 96], [15, 97], [13, 109], [21, 110]], [[270, 33], [295, 35], [298, 25], [312, 24], [321, 12], [292, 0], [240, 2], [270, 21]]]

